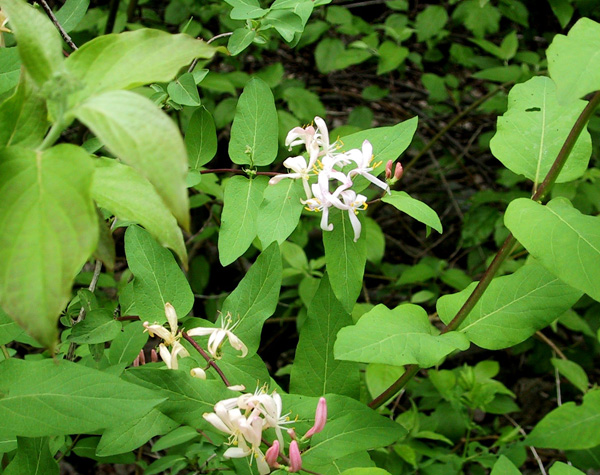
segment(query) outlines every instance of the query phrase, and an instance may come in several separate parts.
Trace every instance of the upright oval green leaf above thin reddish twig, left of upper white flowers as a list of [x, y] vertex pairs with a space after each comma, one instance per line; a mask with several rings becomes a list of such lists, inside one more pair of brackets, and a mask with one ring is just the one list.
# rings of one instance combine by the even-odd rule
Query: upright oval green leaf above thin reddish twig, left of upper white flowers
[[238, 100], [229, 157], [239, 165], [269, 165], [277, 156], [278, 122], [271, 88], [252, 78]]

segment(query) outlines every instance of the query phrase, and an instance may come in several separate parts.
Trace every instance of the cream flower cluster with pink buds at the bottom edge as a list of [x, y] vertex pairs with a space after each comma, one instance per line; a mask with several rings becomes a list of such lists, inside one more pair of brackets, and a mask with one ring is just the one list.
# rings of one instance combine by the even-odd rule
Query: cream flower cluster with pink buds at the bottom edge
[[[265, 387], [258, 388], [254, 394], [243, 394], [237, 398], [225, 399], [215, 404], [215, 412], [203, 415], [216, 429], [229, 434], [226, 458], [253, 456], [261, 475], [270, 473], [271, 468], [279, 468], [278, 459], [282, 457], [288, 463], [289, 472], [298, 472], [302, 468], [302, 456], [293, 429], [287, 432], [292, 436], [288, 448], [288, 457], [280, 452], [284, 448], [282, 429], [293, 421], [289, 413], [282, 415], [281, 396], [273, 391], [269, 394]], [[327, 421], [327, 402], [319, 400], [314, 426], [301, 439], [306, 440], [323, 430]], [[276, 439], [263, 453], [261, 449], [263, 431], [274, 429]]]

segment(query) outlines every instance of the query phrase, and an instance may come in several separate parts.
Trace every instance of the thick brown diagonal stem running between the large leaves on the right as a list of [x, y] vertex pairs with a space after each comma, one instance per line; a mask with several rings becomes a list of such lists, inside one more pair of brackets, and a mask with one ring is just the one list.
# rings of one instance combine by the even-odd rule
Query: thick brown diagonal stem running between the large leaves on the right
[[[579, 135], [581, 134], [582, 130], [590, 120], [590, 117], [592, 116], [594, 110], [596, 109], [596, 107], [598, 107], [599, 104], [600, 92], [597, 92], [592, 97], [585, 109], [583, 109], [583, 111], [579, 115], [579, 118], [573, 125], [571, 132], [569, 132], [567, 139], [565, 140], [562, 148], [560, 149], [560, 152], [558, 152], [556, 160], [554, 160], [552, 167], [546, 174], [546, 178], [544, 178], [544, 181], [542, 182], [536, 193], [532, 196], [532, 200], [540, 201], [548, 194], [548, 192], [552, 188], [552, 185], [554, 185], [554, 182], [556, 181], [556, 178], [558, 177], [560, 171], [565, 165], [565, 162], [567, 161], [571, 150], [573, 150], [575, 142], [577, 142]], [[500, 268], [500, 265], [512, 252], [512, 249], [516, 242], [517, 240], [514, 238], [514, 236], [512, 234], [509, 234], [506, 240], [504, 241], [504, 244], [502, 244], [502, 247], [498, 250], [496, 256], [494, 257], [494, 260], [483, 274], [481, 280], [477, 284], [477, 287], [475, 287], [475, 290], [473, 290], [467, 301], [463, 304], [463, 306], [460, 308], [460, 310], [452, 319], [452, 321], [442, 330], [442, 333], [447, 333], [449, 331], [456, 330], [460, 326], [460, 324], [465, 320], [465, 318], [467, 318], [467, 315], [469, 315], [471, 310], [473, 310], [477, 302], [479, 302], [479, 299], [483, 296], [483, 293], [486, 291], [486, 289], [492, 282], [494, 276], [496, 275], [496, 272], [498, 272], [498, 269]], [[404, 386], [406, 386], [406, 384], [418, 372], [419, 367], [417, 365], [406, 366], [404, 374], [383, 393], [381, 393], [379, 396], [373, 399], [369, 403], [369, 407], [375, 409], [381, 406], [394, 394], [403, 389]]]

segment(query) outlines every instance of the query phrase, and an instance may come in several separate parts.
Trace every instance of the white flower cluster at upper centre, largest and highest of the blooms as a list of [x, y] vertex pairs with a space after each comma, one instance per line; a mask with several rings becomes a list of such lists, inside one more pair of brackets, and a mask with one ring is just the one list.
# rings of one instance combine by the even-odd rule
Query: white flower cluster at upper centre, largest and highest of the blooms
[[[387, 183], [371, 174], [379, 163], [373, 164], [373, 146], [368, 140], [362, 148], [352, 149], [347, 152], [338, 152], [341, 144], [336, 141], [329, 142], [329, 131], [325, 121], [315, 117], [314, 123], [307, 127], [295, 127], [287, 135], [285, 144], [291, 150], [296, 145], [305, 145], [308, 161], [303, 156], [287, 158], [283, 165], [293, 173], [276, 175], [269, 183], [278, 183], [284, 178], [300, 179], [306, 192], [306, 200], [302, 203], [309, 211], [322, 212], [321, 229], [333, 230], [329, 223], [329, 208], [334, 207], [348, 211], [350, 223], [354, 230], [354, 241], [358, 241], [361, 233], [361, 224], [357, 217], [359, 210], [367, 209], [367, 197], [352, 190], [353, 179], [362, 176], [384, 191], [390, 192]], [[354, 165], [347, 171], [348, 165]], [[316, 176], [316, 183], [309, 183], [311, 177]]]

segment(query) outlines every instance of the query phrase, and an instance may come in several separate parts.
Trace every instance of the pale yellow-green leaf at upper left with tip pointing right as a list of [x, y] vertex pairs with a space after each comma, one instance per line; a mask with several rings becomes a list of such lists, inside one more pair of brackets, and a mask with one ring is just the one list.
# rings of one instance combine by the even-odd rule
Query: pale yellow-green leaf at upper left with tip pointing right
[[212, 58], [215, 51], [204, 41], [159, 30], [99, 36], [65, 60], [66, 70], [83, 83], [71, 103], [99, 92], [168, 82], [193, 59]]

